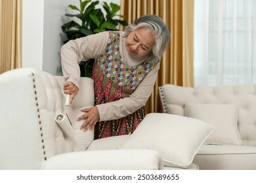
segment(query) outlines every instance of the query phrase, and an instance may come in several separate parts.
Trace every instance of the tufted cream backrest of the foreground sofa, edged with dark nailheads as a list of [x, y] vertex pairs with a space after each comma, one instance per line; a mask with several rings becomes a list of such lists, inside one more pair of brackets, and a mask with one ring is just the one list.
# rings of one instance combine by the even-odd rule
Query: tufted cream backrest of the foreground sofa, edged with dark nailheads
[[[75, 150], [74, 139], [54, 120], [64, 113], [64, 82], [62, 76], [32, 68], [0, 75], [0, 169], [40, 169], [52, 156]], [[93, 105], [93, 80], [81, 78], [69, 111], [72, 124], [81, 108]]]

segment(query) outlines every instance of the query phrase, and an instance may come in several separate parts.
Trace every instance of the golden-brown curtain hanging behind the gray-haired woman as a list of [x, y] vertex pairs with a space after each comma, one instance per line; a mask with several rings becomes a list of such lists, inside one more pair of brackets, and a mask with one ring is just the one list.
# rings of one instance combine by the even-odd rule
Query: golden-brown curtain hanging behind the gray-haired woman
[[[171, 33], [171, 41], [161, 59], [154, 91], [146, 103], [146, 112], [161, 112], [158, 87], [163, 84], [193, 86], [193, 14], [194, 0], [121, 0], [121, 14], [131, 24], [144, 14], [162, 18]], [[122, 29], [123, 27], [121, 27]]]

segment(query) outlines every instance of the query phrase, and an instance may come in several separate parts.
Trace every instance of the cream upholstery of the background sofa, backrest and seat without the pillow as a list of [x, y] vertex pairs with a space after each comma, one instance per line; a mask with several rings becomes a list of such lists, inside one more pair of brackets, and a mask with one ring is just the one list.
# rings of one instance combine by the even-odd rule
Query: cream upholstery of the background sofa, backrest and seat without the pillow
[[188, 103], [235, 105], [242, 146], [203, 144], [193, 163], [200, 169], [256, 169], [256, 84], [196, 88], [166, 84], [159, 90], [163, 112], [170, 114], [184, 116]]

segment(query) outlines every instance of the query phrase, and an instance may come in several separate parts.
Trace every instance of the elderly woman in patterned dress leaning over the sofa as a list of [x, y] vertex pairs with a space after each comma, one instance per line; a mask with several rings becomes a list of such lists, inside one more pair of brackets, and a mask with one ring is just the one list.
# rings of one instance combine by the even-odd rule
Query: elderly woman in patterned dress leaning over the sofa
[[85, 108], [81, 129], [95, 139], [131, 134], [145, 116], [169, 30], [156, 15], [141, 16], [125, 31], [105, 31], [69, 41], [61, 48], [64, 93], [70, 103], [79, 92], [79, 62], [95, 58], [95, 106]]

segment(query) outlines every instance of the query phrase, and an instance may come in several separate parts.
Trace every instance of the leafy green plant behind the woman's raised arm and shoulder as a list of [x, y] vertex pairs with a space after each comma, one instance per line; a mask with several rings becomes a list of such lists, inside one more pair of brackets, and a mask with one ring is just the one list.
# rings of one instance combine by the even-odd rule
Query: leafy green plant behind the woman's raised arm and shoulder
[[[79, 0], [80, 7], [77, 8], [74, 5], [68, 5], [72, 10], [79, 11], [78, 14], [65, 14], [69, 17], [76, 17], [81, 20], [80, 24], [71, 20], [70, 22], [62, 25], [62, 31], [66, 33], [67, 40], [64, 43], [77, 39], [79, 37], [86, 37], [87, 35], [100, 33], [102, 31], [116, 31], [117, 25], [121, 24], [123, 26], [127, 25], [124, 20], [115, 19], [115, 16], [123, 17], [116, 14], [120, 10], [120, 6], [115, 3], [102, 2], [102, 8], [96, 8], [99, 1], [91, 0]], [[106, 13], [102, 12], [104, 10]], [[81, 61], [79, 64], [81, 70], [81, 76], [92, 76], [94, 59], [89, 61]]]

